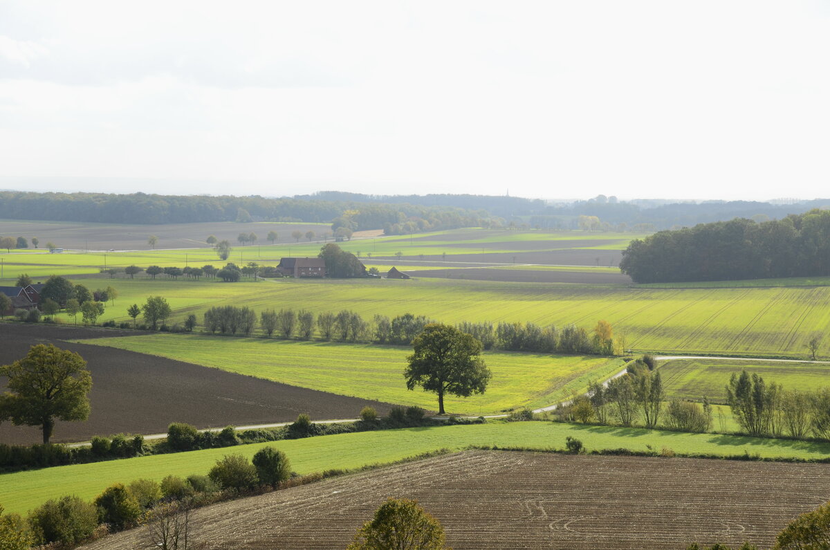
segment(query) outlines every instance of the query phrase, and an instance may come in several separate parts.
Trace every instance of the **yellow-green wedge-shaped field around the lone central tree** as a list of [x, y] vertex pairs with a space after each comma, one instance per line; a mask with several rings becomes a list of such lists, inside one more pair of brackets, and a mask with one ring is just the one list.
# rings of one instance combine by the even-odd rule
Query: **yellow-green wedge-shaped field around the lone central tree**
[[[409, 391], [403, 379], [411, 348], [159, 334], [86, 340], [130, 351], [188, 361], [313, 390], [436, 410], [435, 394]], [[447, 395], [452, 413], [486, 415], [515, 407], [538, 408], [584, 391], [588, 381], [623, 368], [621, 359], [486, 352], [493, 378], [483, 395]]]

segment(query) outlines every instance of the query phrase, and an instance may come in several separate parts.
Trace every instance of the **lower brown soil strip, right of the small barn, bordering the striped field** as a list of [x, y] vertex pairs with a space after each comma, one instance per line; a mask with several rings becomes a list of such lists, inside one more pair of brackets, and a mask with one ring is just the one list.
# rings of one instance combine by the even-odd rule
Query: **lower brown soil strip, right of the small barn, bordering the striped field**
[[412, 277], [439, 277], [442, 279], [472, 279], [474, 281], [505, 282], [576, 282], [583, 284], [632, 284], [631, 277], [623, 273], [590, 273], [575, 271], [522, 271], [519, 269], [466, 268], [425, 269], [407, 272]]

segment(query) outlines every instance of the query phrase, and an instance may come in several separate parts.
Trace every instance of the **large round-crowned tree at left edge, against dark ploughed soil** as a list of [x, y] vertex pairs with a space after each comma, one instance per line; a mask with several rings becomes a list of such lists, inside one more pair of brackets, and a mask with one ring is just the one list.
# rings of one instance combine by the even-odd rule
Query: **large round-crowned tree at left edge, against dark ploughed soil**
[[14, 425], [40, 426], [44, 444], [55, 430], [55, 420], [86, 420], [90, 415], [87, 394], [92, 376], [74, 351], [51, 344], [32, 346], [22, 359], [0, 366], [0, 376], [8, 377], [8, 391], [0, 395], [0, 418]]

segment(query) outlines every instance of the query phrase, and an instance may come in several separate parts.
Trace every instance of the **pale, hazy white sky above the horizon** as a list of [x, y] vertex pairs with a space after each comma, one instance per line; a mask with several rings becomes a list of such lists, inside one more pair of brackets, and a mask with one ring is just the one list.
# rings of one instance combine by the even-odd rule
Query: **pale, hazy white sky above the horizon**
[[811, 199], [828, 100], [828, 0], [0, 3], [7, 189]]

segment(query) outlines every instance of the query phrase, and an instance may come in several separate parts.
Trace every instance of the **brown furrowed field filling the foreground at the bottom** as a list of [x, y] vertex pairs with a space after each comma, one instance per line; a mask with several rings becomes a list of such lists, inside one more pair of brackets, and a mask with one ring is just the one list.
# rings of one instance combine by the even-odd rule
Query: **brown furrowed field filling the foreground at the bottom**
[[[219, 548], [345, 548], [388, 497], [415, 498], [461, 550], [762, 548], [830, 498], [830, 465], [468, 451], [202, 508]], [[146, 530], [84, 548], [149, 548]]]

